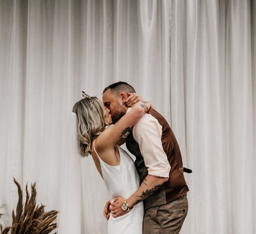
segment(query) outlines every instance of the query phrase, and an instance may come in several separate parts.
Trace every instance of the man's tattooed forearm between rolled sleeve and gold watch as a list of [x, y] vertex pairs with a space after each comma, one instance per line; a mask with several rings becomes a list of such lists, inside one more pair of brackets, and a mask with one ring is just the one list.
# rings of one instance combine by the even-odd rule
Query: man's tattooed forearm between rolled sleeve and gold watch
[[168, 181], [168, 179], [169, 178], [147, 175], [136, 192], [126, 199], [129, 207], [133, 207], [140, 201], [143, 201], [151, 194], [155, 193], [164, 182]]

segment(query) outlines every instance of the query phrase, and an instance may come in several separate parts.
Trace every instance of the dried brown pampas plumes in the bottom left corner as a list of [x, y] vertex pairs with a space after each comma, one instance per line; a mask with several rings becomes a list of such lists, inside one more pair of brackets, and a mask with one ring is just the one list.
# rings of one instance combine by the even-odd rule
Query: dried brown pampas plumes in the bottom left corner
[[[47, 234], [57, 227], [57, 223], [53, 221], [57, 218], [58, 212], [51, 210], [45, 212], [45, 206], [36, 206], [37, 191], [35, 183], [31, 184], [31, 196], [29, 197], [26, 185], [26, 202], [23, 207], [22, 190], [20, 184], [13, 178], [14, 183], [18, 187], [19, 200], [16, 207], [16, 215], [12, 210], [12, 225], [2, 228], [0, 225], [0, 234], [7, 234], [11, 230], [11, 234]], [[3, 214], [0, 214], [0, 218]]]

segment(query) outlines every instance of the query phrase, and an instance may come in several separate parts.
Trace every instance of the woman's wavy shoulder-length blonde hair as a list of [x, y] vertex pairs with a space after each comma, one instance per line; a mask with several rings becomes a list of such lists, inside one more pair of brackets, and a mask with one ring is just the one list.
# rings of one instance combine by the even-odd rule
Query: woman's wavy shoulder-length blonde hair
[[96, 139], [107, 125], [104, 120], [106, 110], [103, 102], [96, 96], [91, 97], [91, 100], [93, 100], [92, 108], [90, 99], [84, 98], [75, 103], [72, 111], [77, 114], [78, 118], [78, 138], [83, 157], [91, 154], [92, 140]]

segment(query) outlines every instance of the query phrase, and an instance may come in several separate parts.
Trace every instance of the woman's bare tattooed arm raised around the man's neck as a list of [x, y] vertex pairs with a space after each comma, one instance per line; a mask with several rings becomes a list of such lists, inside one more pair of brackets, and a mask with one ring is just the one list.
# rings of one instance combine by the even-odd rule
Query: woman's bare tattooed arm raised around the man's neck
[[104, 150], [116, 145], [131, 130], [131, 127], [149, 111], [150, 107], [151, 103], [148, 101], [136, 102], [130, 112], [126, 113], [117, 123], [99, 135], [97, 138], [98, 149]]

